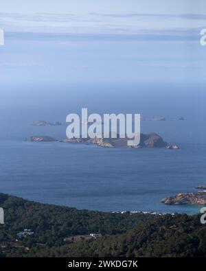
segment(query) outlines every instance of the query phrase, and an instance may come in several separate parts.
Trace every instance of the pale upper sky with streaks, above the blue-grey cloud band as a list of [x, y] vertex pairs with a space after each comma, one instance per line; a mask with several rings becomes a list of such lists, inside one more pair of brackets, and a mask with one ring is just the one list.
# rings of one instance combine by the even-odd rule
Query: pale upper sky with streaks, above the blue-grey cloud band
[[205, 0], [7, 0], [7, 32], [132, 33], [202, 27]]

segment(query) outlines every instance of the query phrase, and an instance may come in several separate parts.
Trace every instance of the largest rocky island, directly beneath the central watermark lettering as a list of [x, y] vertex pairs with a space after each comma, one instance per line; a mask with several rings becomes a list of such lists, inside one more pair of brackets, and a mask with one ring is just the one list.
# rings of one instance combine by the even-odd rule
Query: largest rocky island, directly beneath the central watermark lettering
[[[65, 143], [91, 143], [99, 145], [100, 147], [105, 148], [131, 148], [128, 147], [128, 138], [120, 138], [119, 134], [117, 134], [117, 138], [111, 138], [108, 139], [105, 138], [95, 138], [95, 139], [63, 139], [61, 142]], [[159, 134], [155, 134], [154, 132], [150, 134], [141, 134], [140, 136], [140, 143], [138, 146], [132, 147], [132, 148], [166, 148], [168, 146], [168, 143], [163, 141], [163, 139], [159, 136]]]

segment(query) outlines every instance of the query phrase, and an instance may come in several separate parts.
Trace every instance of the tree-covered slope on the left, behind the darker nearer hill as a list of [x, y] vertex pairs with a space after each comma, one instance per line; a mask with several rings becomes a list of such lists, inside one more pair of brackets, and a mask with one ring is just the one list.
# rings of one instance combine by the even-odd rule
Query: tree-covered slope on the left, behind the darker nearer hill
[[2, 193], [0, 207], [3, 207], [5, 213], [5, 224], [0, 225], [0, 241], [14, 241], [16, 233], [24, 228], [31, 228], [34, 235], [23, 241], [25, 245], [30, 246], [36, 243], [47, 246], [65, 244], [63, 239], [69, 235], [124, 233], [151, 216], [80, 211], [23, 200]]

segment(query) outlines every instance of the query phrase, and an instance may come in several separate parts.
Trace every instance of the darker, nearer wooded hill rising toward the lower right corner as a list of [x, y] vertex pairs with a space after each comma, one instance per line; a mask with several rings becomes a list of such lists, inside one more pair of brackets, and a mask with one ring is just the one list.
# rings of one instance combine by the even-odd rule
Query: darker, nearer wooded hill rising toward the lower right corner
[[58, 248], [33, 248], [36, 257], [205, 257], [206, 228], [198, 215], [165, 215], [123, 234]]

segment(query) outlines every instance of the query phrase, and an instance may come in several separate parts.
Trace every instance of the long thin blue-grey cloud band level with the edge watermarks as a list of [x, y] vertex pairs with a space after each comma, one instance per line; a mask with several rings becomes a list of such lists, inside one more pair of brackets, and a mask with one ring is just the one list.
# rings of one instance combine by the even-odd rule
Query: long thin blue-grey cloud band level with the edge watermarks
[[128, 32], [115, 30], [115, 34], [110, 33], [41, 33], [41, 32], [9, 32], [6, 40], [16, 43], [23, 42], [47, 42], [58, 45], [72, 46], [83, 45], [84, 43], [141, 43], [141, 42], [179, 42], [179, 43], [199, 43], [198, 29], [174, 29], [174, 30], [144, 30], [139, 32]]

